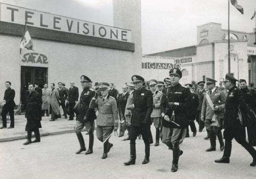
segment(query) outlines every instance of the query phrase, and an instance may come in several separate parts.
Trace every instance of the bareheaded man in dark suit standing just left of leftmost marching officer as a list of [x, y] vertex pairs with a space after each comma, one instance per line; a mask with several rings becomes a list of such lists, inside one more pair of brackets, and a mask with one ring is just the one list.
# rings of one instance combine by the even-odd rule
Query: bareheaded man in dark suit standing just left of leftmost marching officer
[[75, 82], [71, 81], [70, 82], [70, 89], [68, 91], [68, 103], [69, 103], [69, 119], [68, 120], [74, 120], [74, 107], [76, 103], [78, 102], [79, 98], [79, 90], [75, 86]]

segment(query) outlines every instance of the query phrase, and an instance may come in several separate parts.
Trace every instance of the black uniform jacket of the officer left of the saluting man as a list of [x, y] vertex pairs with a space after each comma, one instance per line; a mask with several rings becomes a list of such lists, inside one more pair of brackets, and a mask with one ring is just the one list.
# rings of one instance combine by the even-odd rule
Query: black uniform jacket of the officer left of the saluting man
[[78, 116], [77, 120], [78, 121], [83, 121], [84, 116], [87, 117], [87, 120], [95, 120], [96, 119], [96, 114], [94, 109], [90, 109], [90, 101], [93, 99], [95, 95], [94, 89], [91, 88], [84, 88], [83, 91], [81, 92], [79, 103], [79, 109], [78, 109]]

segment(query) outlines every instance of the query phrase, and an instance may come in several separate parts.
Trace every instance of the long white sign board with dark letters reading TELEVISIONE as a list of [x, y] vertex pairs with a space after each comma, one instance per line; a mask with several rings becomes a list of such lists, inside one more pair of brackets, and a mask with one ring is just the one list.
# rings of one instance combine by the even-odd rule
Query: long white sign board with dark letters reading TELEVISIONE
[[0, 21], [131, 42], [131, 31], [0, 3]]

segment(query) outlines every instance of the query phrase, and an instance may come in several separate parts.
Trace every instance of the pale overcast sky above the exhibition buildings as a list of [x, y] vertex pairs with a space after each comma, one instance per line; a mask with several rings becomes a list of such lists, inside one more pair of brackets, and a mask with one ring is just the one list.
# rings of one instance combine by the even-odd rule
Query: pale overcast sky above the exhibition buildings
[[[230, 29], [253, 32], [256, 0], [230, 6]], [[0, 0], [38, 11], [113, 26], [112, 0]], [[196, 26], [214, 22], [227, 29], [228, 0], [141, 0], [142, 53], [196, 45]]]

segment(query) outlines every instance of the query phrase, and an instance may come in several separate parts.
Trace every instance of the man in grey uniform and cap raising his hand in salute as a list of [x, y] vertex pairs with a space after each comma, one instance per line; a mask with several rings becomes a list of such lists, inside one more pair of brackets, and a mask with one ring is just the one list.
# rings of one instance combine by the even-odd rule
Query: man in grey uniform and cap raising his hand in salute
[[108, 152], [113, 147], [113, 144], [108, 142], [113, 130], [118, 129], [118, 110], [116, 100], [109, 95], [109, 84], [107, 82], [100, 83], [99, 91], [101, 97], [96, 93], [90, 102], [90, 108], [98, 108], [99, 114], [97, 116], [97, 138], [103, 142], [103, 155], [102, 159], [108, 157]]

